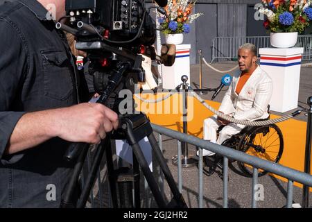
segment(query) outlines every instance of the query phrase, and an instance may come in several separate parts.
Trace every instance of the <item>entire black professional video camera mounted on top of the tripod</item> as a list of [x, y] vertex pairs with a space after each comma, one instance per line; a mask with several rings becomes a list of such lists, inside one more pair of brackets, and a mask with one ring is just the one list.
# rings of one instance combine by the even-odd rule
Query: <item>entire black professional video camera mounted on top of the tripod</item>
[[[156, 1], [166, 6], [166, 0]], [[159, 12], [165, 13], [158, 6]], [[156, 38], [156, 25], [145, 8], [144, 0], [67, 0], [67, 24], [57, 24], [76, 36], [76, 49], [88, 54], [89, 74], [94, 76], [94, 88], [99, 94], [121, 65], [124, 70], [123, 84], [119, 87], [134, 90], [135, 83], [145, 82], [141, 68], [142, 57], [170, 66], [175, 60], [174, 45], [163, 45], [162, 56], [157, 56], [152, 46]], [[168, 51], [170, 53], [168, 54]], [[120, 85], [120, 84], [119, 84]]]

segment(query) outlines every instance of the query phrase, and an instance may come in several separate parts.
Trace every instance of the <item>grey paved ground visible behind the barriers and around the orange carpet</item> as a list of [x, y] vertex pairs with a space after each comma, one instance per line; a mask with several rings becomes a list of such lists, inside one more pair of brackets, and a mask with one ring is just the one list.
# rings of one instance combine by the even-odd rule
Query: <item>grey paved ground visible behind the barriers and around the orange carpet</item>
[[[214, 67], [220, 70], [227, 70], [234, 67], [235, 64], [214, 64]], [[191, 66], [191, 86], [193, 88], [198, 87], [199, 84], [199, 66], [193, 65]], [[311, 67], [302, 67], [301, 70], [301, 78], [300, 78], [300, 93], [299, 93], [299, 101], [298, 106], [306, 107], [306, 98], [312, 96], [312, 68]], [[206, 65], [203, 65], [202, 70], [202, 83], [204, 87], [218, 87], [220, 84], [220, 78], [223, 74], [219, 74], [216, 71], [212, 71]], [[220, 92], [220, 94], [216, 97], [215, 101], [221, 101], [223, 95], [226, 92], [226, 88]], [[210, 99], [212, 92], [209, 94], [202, 95], [203, 99]], [[292, 110], [291, 110], [292, 111]], [[290, 111], [290, 112], [291, 112]], [[275, 114], [280, 114], [274, 112]], [[300, 115], [297, 119], [306, 121], [306, 117], [304, 115]], [[177, 142], [174, 139], [164, 137], [164, 157], [166, 158], [166, 162], [168, 163], [168, 167], [171, 169], [171, 172], [177, 181], [177, 167], [175, 167], [171, 158], [177, 155]], [[196, 149], [192, 146], [189, 146], [189, 154], [194, 155]], [[105, 174], [105, 171], [103, 171]], [[104, 175], [105, 176], [105, 175]], [[204, 200], [203, 207], [207, 208], [215, 208], [223, 206], [223, 181], [218, 176], [218, 173], [214, 173], [212, 176], [203, 176], [204, 180]], [[184, 199], [187, 202], [189, 207], [198, 207], [198, 168], [184, 168], [182, 170], [182, 194]], [[259, 200], [257, 202], [258, 207], [269, 207], [269, 208], [280, 208], [286, 205], [286, 191], [287, 184], [286, 182], [282, 182], [281, 180], [277, 180], [271, 176], [263, 176], [259, 178], [259, 184], [263, 185], [264, 196], [263, 200]], [[103, 183], [102, 185], [104, 191], [103, 196], [103, 205], [107, 203], [107, 183]], [[144, 190], [144, 187], [142, 187]], [[168, 192], [168, 186], [165, 185], [165, 193], [166, 196], [169, 197], [170, 194]], [[302, 189], [298, 187], [294, 187], [293, 190], [294, 196], [293, 200], [295, 203], [302, 202]], [[95, 187], [96, 196], [98, 197], [97, 185]], [[229, 169], [229, 187], [228, 187], [228, 204], [229, 207], [234, 208], [245, 208], [251, 207], [251, 195], [252, 195], [252, 178], [246, 178], [242, 176], [239, 171], [237, 171], [236, 164], [234, 163], [233, 167]], [[142, 192], [142, 196], [144, 196], [144, 192]], [[311, 196], [311, 195], [310, 195]], [[146, 203], [142, 198], [142, 205], [144, 207], [155, 207], [154, 201], [150, 203]], [[98, 202], [97, 202], [98, 203]], [[310, 206], [312, 206], [312, 196], [310, 197]]]

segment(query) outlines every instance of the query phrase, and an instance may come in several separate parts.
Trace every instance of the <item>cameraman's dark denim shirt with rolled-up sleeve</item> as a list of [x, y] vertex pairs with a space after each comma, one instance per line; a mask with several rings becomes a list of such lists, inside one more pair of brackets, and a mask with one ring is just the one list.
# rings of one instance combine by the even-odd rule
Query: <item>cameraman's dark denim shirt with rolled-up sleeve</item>
[[0, 6], [0, 207], [58, 207], [71, 174], [62, 159], [69, 143], [60, 138], [3, 154], [25, 112], [78, 103], [67, 39], [46, 15], [35, 0]]

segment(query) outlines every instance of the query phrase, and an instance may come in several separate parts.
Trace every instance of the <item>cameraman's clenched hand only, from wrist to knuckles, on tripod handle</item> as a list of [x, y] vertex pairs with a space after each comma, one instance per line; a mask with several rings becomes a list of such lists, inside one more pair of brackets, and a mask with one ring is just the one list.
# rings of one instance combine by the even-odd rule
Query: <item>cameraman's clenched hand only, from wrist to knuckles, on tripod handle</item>
[[106, 133], [119, 125], [116, 112], [100, 103], [81, 103], [58, 112], [56, 133], [69, 142], [99, 144]]

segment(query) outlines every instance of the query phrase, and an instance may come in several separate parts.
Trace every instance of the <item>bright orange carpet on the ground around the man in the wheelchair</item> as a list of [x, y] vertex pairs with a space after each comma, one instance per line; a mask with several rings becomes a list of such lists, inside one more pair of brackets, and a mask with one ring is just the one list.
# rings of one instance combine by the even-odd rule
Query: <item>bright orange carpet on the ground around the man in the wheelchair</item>
[[[168, 93], [154, 94], [141, 94], [144, 100], [156, 100], [164, 98]], [[144, 103], [134, 96], [137, 103], [136, 110], [145, 112], [152, 123], [183, 132], [183, 115], [182, 115], [182, 95], [173, 94], [164, 101], [157, 103]], [[214, 109], [218, 110], [220, 103], [216, 101], [206, 101]], [[187, 112], [187, 133], [189, 135], [202, 138], [202, 126], [204, 119], [211, 117], [212, 112], [207, 110], [197, 99], [193, 96], [188, 96], [188, 112]], [[271, 114], [271, 119], [278, 118], [279, 116]], [[279, 160], [279, 164], [285, 167], [291, 167], [298, 171], [304, 171], [304, 151], [306, 142], [306, 122], [296, 119], [290, 119], [282, 123], [277, 123], [281, 129], [284, 137], [284, 152]], [[173, 147], [172, 147], [173, 148]], [[311, 157], [312, 162], [312, 157]], [[312, 165], [311, 165], [312, 171]], [[276, 175], [275, 175], [276, 176]], [[285, 178], [276, 176], [277, 178], [287, 182]], [[302, 187], [298, 182], [294, 182], [295, 186]], [[311, 188], [312, 191], [312, 188]]]

